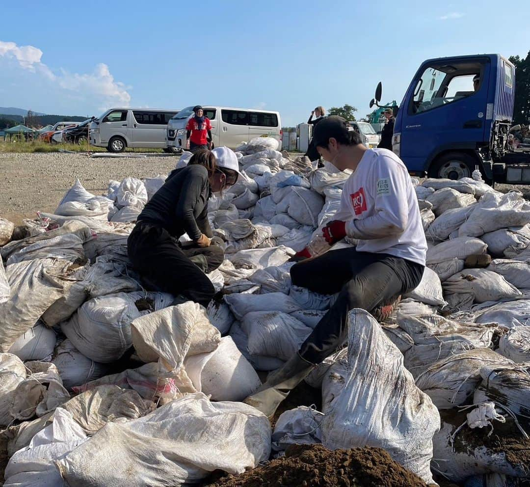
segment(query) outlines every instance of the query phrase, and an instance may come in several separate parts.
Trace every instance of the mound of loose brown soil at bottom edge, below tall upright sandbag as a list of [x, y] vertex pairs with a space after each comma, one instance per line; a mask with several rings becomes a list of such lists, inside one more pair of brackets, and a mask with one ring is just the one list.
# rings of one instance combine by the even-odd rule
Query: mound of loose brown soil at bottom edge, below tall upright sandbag
[[210, 484], [210, 487], [298, 486], [426, 487], [426, 484], [381, 448], [331, 451], [322, 445], [290, 446], [285, 457]]

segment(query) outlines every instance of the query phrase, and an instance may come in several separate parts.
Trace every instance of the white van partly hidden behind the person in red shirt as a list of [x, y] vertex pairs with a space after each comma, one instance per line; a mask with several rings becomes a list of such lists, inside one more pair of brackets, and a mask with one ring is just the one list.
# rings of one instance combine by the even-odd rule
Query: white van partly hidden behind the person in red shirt
[[[254, 137], [266, 135], [279, 141], [281, 149], [281, 120], [279, 112], [250, 108], [213, 107], [203, 105], [204, 116], [211, 122], [214, 147], [236, 148]], [[167, 148], [173, 152], [186, 146], [186, 124], [195, 116], [193, 107], [182, 109], [167, 123]]]

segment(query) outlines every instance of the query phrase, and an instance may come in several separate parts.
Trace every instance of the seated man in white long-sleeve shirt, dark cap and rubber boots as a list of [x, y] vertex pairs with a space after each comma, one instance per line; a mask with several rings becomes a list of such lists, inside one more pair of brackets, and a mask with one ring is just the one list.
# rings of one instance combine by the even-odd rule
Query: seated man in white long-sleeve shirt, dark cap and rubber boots
[[418, 286], [425, 269], [427, 242], [418, 200], [400, 158], [387, 149], [367, 149], [341, 117], [322, 120], [313, 140], [326, 161], [340, 171], [353, 171], [343, 187], [340, 210], [322, 233], [329, 244], [347, 235], [358, 244], [291, 268], [293, 285], [339, 295], [296, 355], [245, 400], [269, 416], [315, 365], [345, 342], [350, 309], [386, 317], [401, 294]]

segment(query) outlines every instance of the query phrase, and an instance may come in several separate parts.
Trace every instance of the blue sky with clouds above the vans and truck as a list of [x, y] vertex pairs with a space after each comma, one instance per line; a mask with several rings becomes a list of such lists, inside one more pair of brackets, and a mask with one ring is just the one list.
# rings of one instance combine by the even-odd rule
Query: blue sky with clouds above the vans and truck
[[[421, 61], [530, 50], [530, 4], [499, 2], [7, 2], [0, 106], [99, 115], [111, 106], [218, 104], [369, 112], [401, 102]], [[496, 35], [496, 32], [499, 34]]]

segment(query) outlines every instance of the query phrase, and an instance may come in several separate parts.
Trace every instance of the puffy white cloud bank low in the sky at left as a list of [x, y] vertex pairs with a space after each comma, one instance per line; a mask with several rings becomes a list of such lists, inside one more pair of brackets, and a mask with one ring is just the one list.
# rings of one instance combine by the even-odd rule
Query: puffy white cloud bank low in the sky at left
[[13, 73], [17, 77], [24, 70], [37, 75], [38, 79], [35, 81], [44, 93], [48, 86], [50, 92], [55, 92], [58, 96], [83, 100], [85, 107], [92, 106], [92, 109], [98, 110], [108, 108], [109, 105], [130, 104], [128, 87], [114, 80], [106, 64], [96, 65], [91, 73], [70, 73], [65, 68], [54, 71], [41, 62], [42, 54], [40, 49], [33, 46], [17, 46], [14, 42], [0, 41], [0, 61], [2, 58], [12, 61], [8, 68], [15, 72], [18, 69], [18, 73]]

